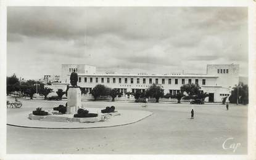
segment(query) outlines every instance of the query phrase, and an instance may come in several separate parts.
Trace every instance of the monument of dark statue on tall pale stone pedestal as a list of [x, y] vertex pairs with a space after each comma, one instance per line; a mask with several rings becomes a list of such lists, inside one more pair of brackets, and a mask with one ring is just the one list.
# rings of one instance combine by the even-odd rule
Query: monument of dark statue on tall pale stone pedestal
[[81, 108], [81, 90], [77, 86], [78, 74], [75, 70], [70, 74], [70, 84], [67, 91], [67, 114], [76, 114]]

